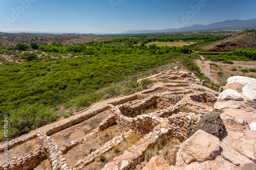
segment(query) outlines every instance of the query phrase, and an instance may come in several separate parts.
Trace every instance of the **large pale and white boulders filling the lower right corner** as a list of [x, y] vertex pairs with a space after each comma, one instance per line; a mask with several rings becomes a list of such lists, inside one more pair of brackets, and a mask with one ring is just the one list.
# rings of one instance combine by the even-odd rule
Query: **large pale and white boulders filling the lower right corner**
[[256, 79], [236, 76], [227, 83], [214, 105], [221, 114], [202, 117], [168, 161], [153, 157], [143, 170], [256, 169]]

